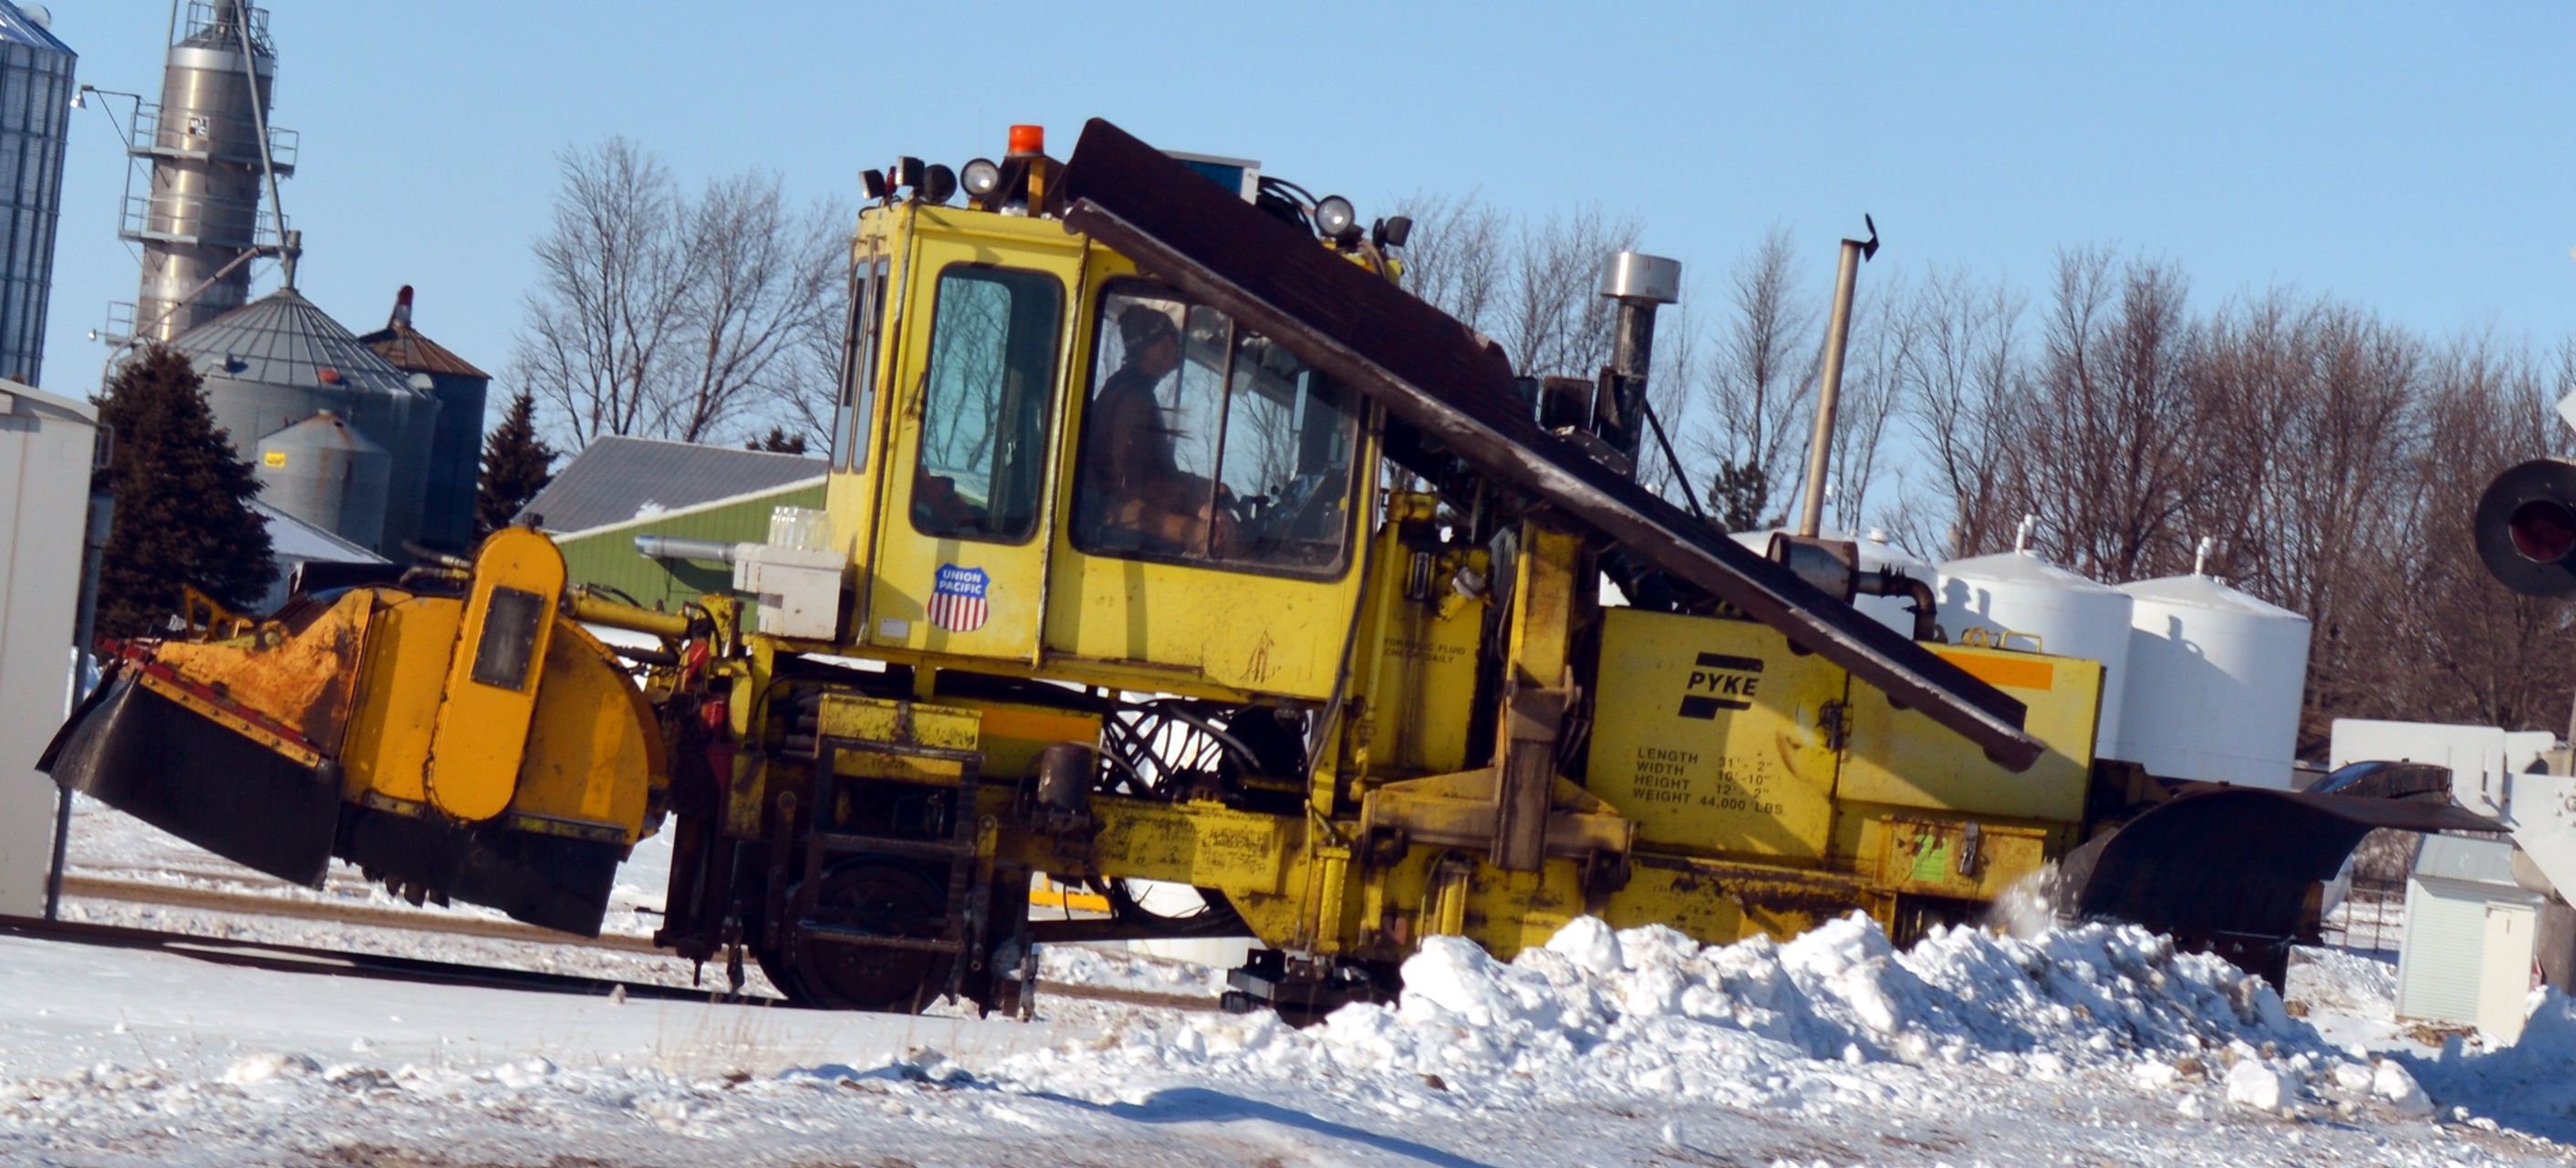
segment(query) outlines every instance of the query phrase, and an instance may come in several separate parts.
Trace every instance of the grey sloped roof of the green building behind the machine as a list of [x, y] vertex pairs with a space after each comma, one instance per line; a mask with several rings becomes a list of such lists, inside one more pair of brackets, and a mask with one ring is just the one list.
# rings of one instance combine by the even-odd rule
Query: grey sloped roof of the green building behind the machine
[[801, 454], [603, 436], [536, 492], [520, 516], [538, 516], [546, 531], [587, 531], [799, 485], [822, 477], [824, 467], [824, 459]]

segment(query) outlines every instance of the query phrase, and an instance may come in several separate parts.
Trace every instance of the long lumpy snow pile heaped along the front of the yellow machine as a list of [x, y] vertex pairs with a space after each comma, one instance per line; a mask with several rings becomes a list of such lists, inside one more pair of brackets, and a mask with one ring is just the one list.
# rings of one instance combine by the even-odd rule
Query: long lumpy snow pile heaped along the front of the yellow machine
[[2342, 1055], [2262, 980], [2143, 928], [2027, 941], [1958, 928], [1899, 954], [1855, 913], [1788, 944], [1728, 946], [1582, 918], [1510, 964], [1430, 939], [1404, 962], [1394, 1008], [1347, 1006], [1306, 1031], [1270, 1013], [1139, 1018], [1097, 1049], [1023, 1055], [997, 1075], [1092, 1096], [1182, 1073], [1427, 1085], [1481, 1106], [1808, 1106], [1893, 1101], [1896, 1078], [1865, 1073], [1886, 1062], [2045, 1080], [2138, 1060], [2164, 1065], [2166, 1080], [2184, 1075], [2174, 1067], [2223, 1078], [2226, 1096], [2272, 1111]]

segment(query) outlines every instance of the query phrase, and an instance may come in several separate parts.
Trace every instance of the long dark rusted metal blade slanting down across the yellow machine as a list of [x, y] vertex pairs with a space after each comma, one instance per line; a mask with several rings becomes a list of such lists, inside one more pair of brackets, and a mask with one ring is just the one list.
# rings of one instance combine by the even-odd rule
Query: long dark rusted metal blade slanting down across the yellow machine
[[1394, 418], [1538, 495], [1656, 567], [1826, 655], [1893, 701], [2025, 768], [2040, 743], [2022, 704], [1651, 490], [1546, 433], [1512, 394], [1512, 366], [1466, 325], [1319, 248], [1306, 232], [1092, 119], [1064, 170], [1066, 229], [1087, 232], [1234, 320], [1285, 340]]

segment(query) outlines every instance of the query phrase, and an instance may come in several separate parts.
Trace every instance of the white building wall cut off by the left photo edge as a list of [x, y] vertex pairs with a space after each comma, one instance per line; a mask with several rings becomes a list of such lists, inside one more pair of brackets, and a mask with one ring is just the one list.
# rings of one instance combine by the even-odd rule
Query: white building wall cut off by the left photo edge
[[80, 536], [98, 410], [0, 382], [0, 913], [41, 915], [54, 781], [36, 755], [72, 701]]

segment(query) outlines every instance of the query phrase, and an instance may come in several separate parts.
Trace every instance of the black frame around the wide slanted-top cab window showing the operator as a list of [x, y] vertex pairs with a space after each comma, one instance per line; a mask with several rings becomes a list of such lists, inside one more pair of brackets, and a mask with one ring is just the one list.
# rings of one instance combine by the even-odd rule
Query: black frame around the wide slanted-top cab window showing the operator
[[[1072, 547], [1079, 554], [1095, 557], [1095, 560], [1136, 560], [1136, 562], [1146, 562], [1146, 565], [1200, 567], [1200, 570], [1211, 570], [1211, 572], [1270, 575], [1270, 578], [1283, 578], [1283, 580], [1311, 580], [1311, 583], [1345, 580], [1350, 575], [1352, 565], [1358, 565], [1358, 560], [1360, 560], [1352, 549], [1360, 541], [1360, 531], [1358, 531], [1358, 526], [1360, 526], [1360, 505], [1363, 505], [1363, 500], [1360, 500], [1360, 485], [1363, 485], [1360, 472], [1363, 472], [1363, 462], [1365, 462], [1363, 459], [1363, 446], [1368, 443], [1368, 413], [1365, 413], [1365, 407], [1363, 410], [1352, 410], [1352, 405], [1358, 405], [1358, 400], [1360, 400], [1358, 389], [1352, 389], [1352, 387], [1347, 387], [1342, 382], [1334, 382], [1332, 374], [1324, 374], [1324, 369], [1314, 366], [1303, 356], [1298, 356], [1298, 361], [1306, 361], [1306, 369], [1309, 369], [1311, 376], [1321, 376], [1327, 384], [1332, 384], [1334, 389], [1340, 389], [1340, 394], [1342, 394], [1342, 415], [1350, 420], [1350, 477], [1342, 482], [1342, 541], [1340, 541], [1340, 549], [1337, 549], [1332, 565], [1324, 565], [1324, 567], [1291, 567], [1291, 565], [1267, 565], [1267, 562], [1257, 562], [1257, 560], [1221, 560], [1216, 554], [1188, 554], [1188, 552], [1172, 554], [1172, 552], [1146, 552], [1146, 549], [1133, 549], [1133, 547], [1090, 547], [1082, 539], [1082, 531], [1077, 531], [1077, 523], [1072, 521], [1072, 516], [1082, 513], [1082, 490], [1084, 490], [1084, 480], [1087, 480], [1087, 472], [1090, 472], [1092, 402], [1100, 394], [1100, 376], [1103, 376], [1103, 371], [1100, 371], [1100, 348], [1103, 348], [1100, 338], [1105, 338], [1108, 330], [1110, 330], [1110, 320], [1108, 320], [1108, 302], [1110, 302], [1110, 297], [1170, 299], [1170, 302], [1182, 304], [1182, 317], [1188, 317], [1190, 309], [1208, 309], [1208, 312], [1216, 312], [1218, 317], [1226, 320], [1226, 346], [1224, 346], [1226, 348], [1226, 366], [1218, 371], [1218, 382], [1216, 382], [1218, 384], [1218, 402], [1216, 402], [1216, 418], [1218, 418], [1216, 425], [1218, 425], [1218, 431], [1216, 431], [1213, 449], [1218, 454], [1216, 454], [1216, 467], [1211, 467], [1211, 474], [1208, 474], [1211, 503], [1213, 503], [1213, 490], [1226, 477], [1224, 451], [1226, 451], [1226, 436], [1229, 436], [1226, 431], [1234, 425], [1234, 361], [1242, 356], [1242, 335], [1244, 333], [1255, 333], [1255, 330], [1247, 330], [1242, 320], [1234, 320], [1231, 315], [1226, 315], [1216, 304], [1208, 304], [1206, 299], [1190, 297], [1188, 291], [1175, 289], [1172, 284], [1164, 284], [1164, 281], [1157, 281], [1157, 278], [1146, 278], [1146, 276], [1115, 276], [1115, 278], [1100, 281], [1100, 291], [1095, 294], [1095, 299], [1090, 304], [1090, 322], [1092, 322], [1090, 364], [1092, 364], [1092, 369], [1087, 369], [1082, 374], [1082, 394], [1079, 394], [1079, 410], [1082, 413], [1077, 415], [1077, 425], [1072, 428], [1072, 462], [1074, 462], [1074, 467], [1072, 467], [1072, 487], [1069, 487], [1069, 498], [1064, 500], [1064, 508], [1061, 508], [1061, 513], [1069, 516], [1066, 523], [1064, 523], [1064, 541], [1066, 541], [1066, 547]], [[1273, 346], [1285, 346], [1285, 340], [1280, 340], [1280, 338], [1273, 338], [1267, 333], [1262, 333], [1262, 335]], [[1293, 348], [1291, 348], [1291, 356], [1296, 356]], [[1182, 376], [1182, 374], [1175, 371], [1172, 376]]]

